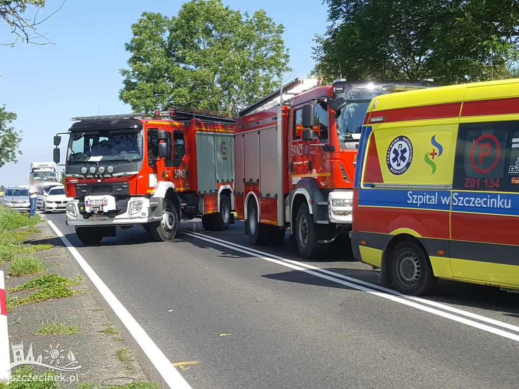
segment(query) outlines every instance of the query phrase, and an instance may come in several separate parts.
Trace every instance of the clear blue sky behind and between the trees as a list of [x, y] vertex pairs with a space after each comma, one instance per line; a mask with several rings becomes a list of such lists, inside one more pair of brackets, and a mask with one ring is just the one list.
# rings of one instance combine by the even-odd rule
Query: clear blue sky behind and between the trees
[[[42, 20], [61, 5], [47, 0], [38, 15]], [[25, 185], [31, 162], [52, 160], [52, 136], [66, 132], [70, 118], [129, 113], [131, 108], [118, 99], [129, 53], [124, 44], [131, 38], [130, 25], [143, 11], [176, 15], [184, 1], [66, 0], [63, 8], [45, 23], [39, 33], [47, 33], [55, 45], [0, 46], [0, 105], [18, 114], [13, 123], [23, 131], [23, 155], [17, 164], [0, 168], [0, 183]], [[294, 77], [306, 77], [313, 67], [313, 35], [325, 32], [326, 6], [321, 0], [279, 2], [263, 0], [223, 0], [233, 9], [254, 12], [265, 9], [276, 23], [285, 26], [283, 38], [290, 50]], [[30, 15], [34, 15], [30, 10]], [[13, 36], [0, 22], [0, 42]], [[101, 108], [99, 108], [101, 106]], [[62, 144], [63, 148], [63, 144]]]

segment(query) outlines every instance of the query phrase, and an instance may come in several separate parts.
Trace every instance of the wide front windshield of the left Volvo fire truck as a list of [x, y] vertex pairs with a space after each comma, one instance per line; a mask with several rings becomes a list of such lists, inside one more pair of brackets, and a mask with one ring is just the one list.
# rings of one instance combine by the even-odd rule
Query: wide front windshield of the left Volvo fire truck
[[142, 159], [142, 130], [72, 133], [67, 162], [135, 162]]

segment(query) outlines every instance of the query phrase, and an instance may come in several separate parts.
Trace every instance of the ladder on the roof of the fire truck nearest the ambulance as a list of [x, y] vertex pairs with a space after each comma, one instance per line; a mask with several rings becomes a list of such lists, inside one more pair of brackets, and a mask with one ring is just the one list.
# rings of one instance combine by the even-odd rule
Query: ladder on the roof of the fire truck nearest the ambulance
[[283, 85], [282, 88], [270, 93], [268, 96], [265, 96], [263, 99], [256, 101], [248, 107], [240, 109], [238, 111], [238, 116], [241, 117], [249, 114], [255, 114], [256, 112], [261, 112], [275, 107], [279, 105], [280, 99], [283, 99], [283, 105], [289, 105], [294, 96], [303, 92], [307, 92], [310, 89], [320, 85], [321, 79], [318, 78], [296, 78], [290, 81], [288, 84]]

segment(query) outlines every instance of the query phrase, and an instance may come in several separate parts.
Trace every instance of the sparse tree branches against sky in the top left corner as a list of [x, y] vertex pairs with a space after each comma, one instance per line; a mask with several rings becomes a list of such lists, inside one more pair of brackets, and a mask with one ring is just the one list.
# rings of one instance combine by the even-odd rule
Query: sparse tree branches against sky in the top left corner
[[[13, 46], [17, 43], [18, 39], [21, 39], [22, 42], [34, 43], [37, 45], [47, 45], [51, 43], [45, 35], [39, 34], [36, 31], [36, 26], [50, 18], [54, 13], [58, 12], [61, 7], [63, 7], [65, 0], [61, 4], [61, 7], [52, 12], [50, 16], [44, 20], [36, 21], [38, 12], [45, 7], [45, 1], [46, 0], [0, 0], [0, 19], [3, 19], [7, 24], [9, 24], [11, 33], [16, 36], [15, 40], [11, 43], [0, 43], [0, 45]], [[36, 8], [36, 15], [34, 18], [26, 18], [24, 16], [28, 6]]]

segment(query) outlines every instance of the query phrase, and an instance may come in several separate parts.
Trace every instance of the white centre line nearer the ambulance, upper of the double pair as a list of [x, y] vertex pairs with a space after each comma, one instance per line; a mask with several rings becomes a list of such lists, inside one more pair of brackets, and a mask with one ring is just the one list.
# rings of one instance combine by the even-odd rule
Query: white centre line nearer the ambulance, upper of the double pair
[[[191, 231], [189, 231], [189, 232], [191, 232]], [[199, 234], [198, 232], [192, 232], [192, 233]], [[208, 235], [204, 235], [204, 234], [200, 234], [200, 235], [208, 236]], [[287, 261], [287, 262], [290, 262], [290, 263], [294, 263], [294, 265], [297, 265], [297, 266], [303, 266], [303, 267], [306, 267], [308, 269], [317, 270], [317, 271], [320, 271], [322, 273], [332, 275], [334, 277], [342, 278], [343, 280], [348, 280], [348, 281], [351, 281], [351, 282], [355, 282], [357, 284], [361, 284], [361, 285], [364, 285], [364, 286], [367, 286], [367, 287], [370, 287], [370, 288], [373, 288], [373, 289], [378, 289], [378, 290], [385, 291], [386, 293], [390, 293], [392, 295], [408, 298], [408, 299], [411, 299], [411, 300], [415, 300], [415, 301], [421, 302], [423, 304], [431, 305], [432, 307], [436, 307], [436, 308], [443, 309], [445, 311], [453, 312], [453, 313], [456, 313], [458, 315], [463, 315], [463, 316], [471, 317], [471, 318], [473, 318], [475, 320], [479, 320], [480, 322], [485, 322], [485, 323], [488, 323], [488, 324], [493, 324], [493, 325], [498, 326], [498, 327], [503, 327], [503, 328], [510, 329], [512, 331], [519, 332], [519, 326], [514, 326], [513, 324], [510, 324], [510, 323], [501, 322], [499, 320], [491, 319], [489, 317], [478, 315], [476, 313], [464, 311], [462, 309], [458, 309], [458, 308], [454, 308], [454, 307], [449, 307], [449, 305], [445, 305], [445, 304], [442, 304], [440, 302], [431, 301], [431, 300], [427, 300], [427, 299], [420, 298], [420, 297], [406, 296], [406, 295], [401, 294], [399, 291], [396, 291], [396, 290], [393, 290], [393, 289], [389, 289], [389, 288], [386, 288], [384, 286], [372, 284], [371, 282], [362, 281], [362, 280], [359, 280], [359, 279], [356, 279], [356, 278], [353, 278], [353, 277], [349, 277], [347, 275], [343, 275], [343, 274], [340, 274], [340, 273], [336, 273], [336, 272], [333, 272], [333, 271], [330, 271], [330, 270], [321, 269], [321, 268], [318, 268], [318, 267], [315, 267], [315, 266], [312, 266], [312, 265], [308, 265], [307, 263], [304, 263], [304, 262], [298, 262], [298, 261], [294, 261], [292, 259], [287, 259], [287, 258], [279, 257], [277, 255], [272, 255], [272, 254], [269, 254], [269, 253], [257, 250], [255, 248], [241, 246], [241, 245], [239, 245], [237, 243], [227, 242], [225, 240], [218, 239], [218, 238], [211, 237], [211, 239], [214, 239], [214, 240], [217, 240], [217, 241], [220, 241], [220, 242], [224, 242], [226, 244], [230, 244], [231, 246], [245, 247], [248, 250], [250, 250], [250, 251], [252, 251], [254, 253], [258, 253], [260, 255], [267, 255], [267, 256], [270, 256], [272, 258], [284, 260], [284, 261]]]

